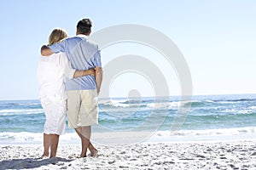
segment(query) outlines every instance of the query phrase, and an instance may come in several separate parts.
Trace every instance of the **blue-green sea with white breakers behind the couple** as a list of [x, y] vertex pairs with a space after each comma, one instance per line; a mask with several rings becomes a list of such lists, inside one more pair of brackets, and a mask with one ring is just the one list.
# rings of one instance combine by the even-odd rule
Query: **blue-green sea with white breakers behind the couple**
[[[149, 132], [149, 142], [256, 139], [256, 94], [198, 95], [186, 103], [180, 96], [99, 99], [99, 111], [92, 133], [100, 139], [129, 132]], [[42, 144], [44, 122], [39, 100], [1, 100], [0, 144]], [[79, 144], [79, 137], [66, 127], [60, 141]]]

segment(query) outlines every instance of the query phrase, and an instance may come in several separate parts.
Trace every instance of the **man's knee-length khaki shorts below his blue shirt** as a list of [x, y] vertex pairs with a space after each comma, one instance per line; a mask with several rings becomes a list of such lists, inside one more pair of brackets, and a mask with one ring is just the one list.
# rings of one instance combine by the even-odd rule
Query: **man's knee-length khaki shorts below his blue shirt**
[[98, 124], [96, 90], [67, 91], [68, 127], [77, 128]]

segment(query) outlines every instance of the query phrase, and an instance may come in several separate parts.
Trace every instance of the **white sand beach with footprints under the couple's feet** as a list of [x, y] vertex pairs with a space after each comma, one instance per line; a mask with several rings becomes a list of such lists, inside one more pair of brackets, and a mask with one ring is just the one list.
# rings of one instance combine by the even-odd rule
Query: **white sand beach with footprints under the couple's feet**
[[256, 169], [255, 141], [96, 145], [97, 157], [76, 158], [80, 145], [61, 144], [39, 159], [40, 145], [0, 146], [0, 169]]

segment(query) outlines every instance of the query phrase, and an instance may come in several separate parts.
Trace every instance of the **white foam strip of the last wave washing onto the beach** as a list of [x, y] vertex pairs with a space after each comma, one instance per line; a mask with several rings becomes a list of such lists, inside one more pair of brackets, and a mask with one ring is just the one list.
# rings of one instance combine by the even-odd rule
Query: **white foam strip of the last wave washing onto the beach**
[[[145, 133], [148, 136], [145, 136]], [[141, 138], [143, 136], [143, 138]], [[132, 138], [135, 142], [189, 142], [211, 141], [227, 139], [256, 139], [256, 127], [219, 128], [207, 130], [179, 130], [157, 132], [119, 132], [92, 133], [91, 140], [98, 144], [125, 143], [125, 139]], [[136, 140], [137, 138], [137, 140]], [[107, 142], [106, 142], [107, 141]], [[43, 144], [42, 133], [0, 133], [0, 144]], [[77, 133], [65, 133], [60, 137], [60, 144], [80, 144]]]

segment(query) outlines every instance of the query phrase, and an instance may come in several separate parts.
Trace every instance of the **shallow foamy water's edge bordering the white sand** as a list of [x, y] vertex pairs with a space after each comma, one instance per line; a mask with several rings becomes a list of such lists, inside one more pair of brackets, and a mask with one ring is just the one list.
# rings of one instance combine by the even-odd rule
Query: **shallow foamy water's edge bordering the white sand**
[[[137, 143], [201, 143], [201, 142], [218, 142], [218, 141], [239, 141], [254, 140], [256, 141], [255, 127], [239, 128], [241, 133], [180, 133], [172, 134], [171, 131], [157, 131], [155, 133], [148, 131], [141, 132], [93, 132], [91, 141], [96, 144], [137, 144]], [[248, 130], [249, 129], [249, 130]], [[214, 129], [213, 129], [214, 130]], [[215, 129], [216, 130], [216, 129]], [[218, 129], [217, 129], [218, 130]], [[232, 129], [230, 129], [232, 131]], [[219, 131], [219, 130], [218, 130]], [[230, 131], [229, 131], [230, 132]], [[42, 144], [43, 133], [3, 133], [1, 145], [15, 144]], [[79, 136], [73, 133], [65, 133], [60, 136], [59, 144], [80, 144]]]

